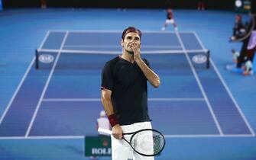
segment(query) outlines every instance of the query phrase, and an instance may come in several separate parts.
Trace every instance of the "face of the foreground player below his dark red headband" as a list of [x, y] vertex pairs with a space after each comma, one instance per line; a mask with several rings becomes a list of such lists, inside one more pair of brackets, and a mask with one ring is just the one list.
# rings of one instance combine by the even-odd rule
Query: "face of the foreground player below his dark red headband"
[[122, 40], [121, 45], [127, 51], [128, 53], [133, 53], [132, 46], [135, 44], [138, 45], [138, 47], [141, 47], [141, 38], [137, 33], [130, 32], [125, 35], [125, 39]]

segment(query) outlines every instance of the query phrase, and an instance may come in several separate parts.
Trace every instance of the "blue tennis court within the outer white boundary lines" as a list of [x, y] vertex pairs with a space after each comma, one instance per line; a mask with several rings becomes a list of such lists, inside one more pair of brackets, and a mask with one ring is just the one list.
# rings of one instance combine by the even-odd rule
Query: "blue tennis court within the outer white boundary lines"
[[[92, 113], [102, 110], [101, 69], [121, 53], [122, 48], [115, 45], [120, 34], [48, 31], [38, 50], [38, 69], [33, 59], [2, 116], [1, 139], [96, 134]], [[206, 69], [207, 61], [193, 61], [198, 55], [206, 56], [195, 32], [145, 31], [143, 38], [141, 52], [163, 82], [157, 91], [149, 90], [156, 129], [167, 137], [254, 136], [214, 63]]]

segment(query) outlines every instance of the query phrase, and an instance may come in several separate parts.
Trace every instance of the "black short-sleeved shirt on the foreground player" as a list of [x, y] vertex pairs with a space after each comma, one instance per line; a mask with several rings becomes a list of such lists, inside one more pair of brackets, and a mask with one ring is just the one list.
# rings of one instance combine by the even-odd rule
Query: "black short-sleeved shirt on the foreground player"
[[[146, 59], [143, 61], [149, 66]], [[121, 56], [105, 63], [102, 89], [112, 91], [112, 104], [120, 125], [150, 121], [147, 111], [147, 78], [136, 62]]]

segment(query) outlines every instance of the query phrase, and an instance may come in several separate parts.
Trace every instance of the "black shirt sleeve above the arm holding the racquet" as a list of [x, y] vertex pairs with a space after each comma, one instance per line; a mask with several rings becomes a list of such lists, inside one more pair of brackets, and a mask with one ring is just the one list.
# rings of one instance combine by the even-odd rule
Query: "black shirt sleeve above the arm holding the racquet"
[[113, 88], [113, 74], [110, 64], [107, 62], [102, 69], [102, 86], [101, 89], [109, 89], [112, 91]]

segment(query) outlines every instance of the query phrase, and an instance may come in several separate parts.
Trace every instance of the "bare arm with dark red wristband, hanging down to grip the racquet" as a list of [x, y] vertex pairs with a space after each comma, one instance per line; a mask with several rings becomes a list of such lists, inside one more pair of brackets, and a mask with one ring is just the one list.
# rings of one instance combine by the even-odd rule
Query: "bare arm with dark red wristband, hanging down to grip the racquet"
[[112, 91], [109, 89], [102, 89], [102, 105], [104, 107], [105, 113], [109, 118], [109, 122], [112, 126], [112, 134], [116, 139], [122, 139], [122, 128], [115, 117], [113, 104], [111, 101]]

